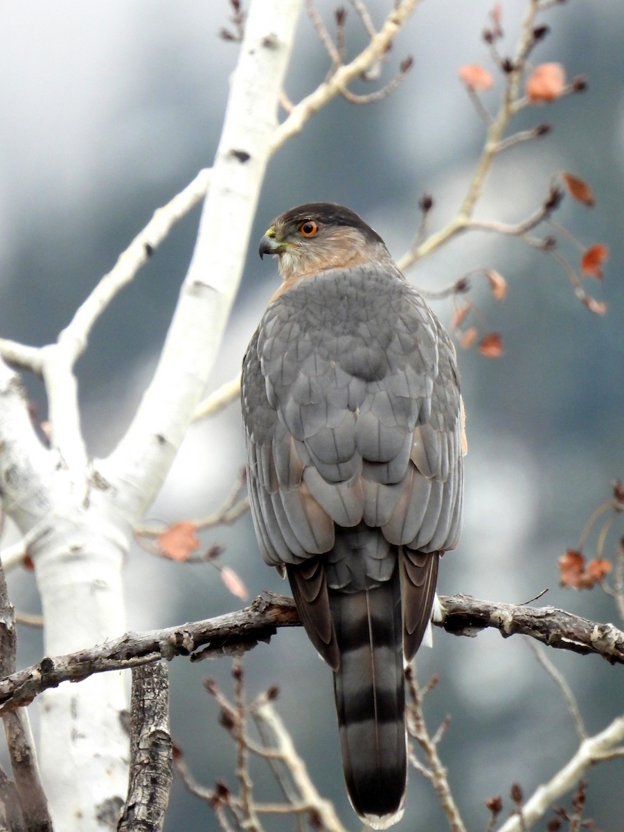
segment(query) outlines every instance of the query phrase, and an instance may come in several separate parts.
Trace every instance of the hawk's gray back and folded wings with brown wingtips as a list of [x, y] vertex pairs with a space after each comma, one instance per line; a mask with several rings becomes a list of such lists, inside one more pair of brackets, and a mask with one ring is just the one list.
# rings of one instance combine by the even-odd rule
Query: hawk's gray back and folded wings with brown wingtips
[[[288, 565], [317, 650], [336, 665], [328, 588], [386, 580], [398, 552], [411, 656], [435, 589], [430, 553], [456, 545], [463, 485], [454, 349], [425, 301], [372, 266], [283, 292], [243, 362], [243, 422], [263, 557]], [[355, 527], [354, 554], [341, 539]]]

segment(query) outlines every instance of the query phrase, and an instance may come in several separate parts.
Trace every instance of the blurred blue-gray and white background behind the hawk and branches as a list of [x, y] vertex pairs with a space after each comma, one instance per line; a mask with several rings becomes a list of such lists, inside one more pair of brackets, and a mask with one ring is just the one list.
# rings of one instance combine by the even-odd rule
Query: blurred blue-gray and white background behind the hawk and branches
[[[245, 3], [245, 5], [247, 5]], [[500, 3], [504, 54], [512, 52], [527, 3]], [[380, 24], [390, 2], [370, 3]], [[319, 2], [328, 25], [332, 3]], [[351, 54], [364, 35], [351, 10]], [[481, 39], [486, 0], [429, 0], [417, 9], [387, 62], [386, 77], [406, 55], [414, 67], [397, 92], [361, 107], [333, 102], [302, 135], [273, 158], [263, 185], [252, 240], [273, 216], [297, 203], [338, 201], [363, 215], [398, 258], [419, 221], [418, 201], [433, 195], [431, 228], [454, 214], [484, 139], [484, 126], [459, 82], [459, 67], [493, 70]], [[0, 334], [46, 344], [150, 219], [196, 174], [210, 166], [238, 47], [219, 38], [229, 27], [226, 0], [184, 4], [150, 0], [5, 2], [0, 6]], [[533, 60], [561, 62], [567, 76], [587, 77], [588, 92], [531, 107], [513, 127], [543, 121], [553, 133], [510, 151], [494, 168], [478, 215], [517, 221], [542, 201], [554, 171], [588, 181], [597, 205], [567, 199], [557, 219], [584, 245], [610, 249], [604, 285], [587, 289], [608, 305], [598, 317], [574, 297], [554, 260], [520, 240], [471, 234], [422, 261], [415, 285], [440, 289], [479, 266], [509, 281], [504, 302], [486, 281], [472, 281], [470, 298], [482, 334], [503, 335], [504, 356], [484, 359], [459, 349], [468, 411], [464, 535], [441, 567], [442, 593], [468, 592], [525, 602], [548, 587], [539, 604], [617, 622], [599, 590], [558, 586], [558, 557], [577, 546], [587, 516], [624, 476], [624, 16], [617, 3], [571, 0], [543, 15], [552, 31]], [[327, 56], [302, 15], [287, 94], [293, 101], [322, 81]], [[498, 102], [501, 79], [484, 94]], [[261, 79], [259, 79], [261, 82]], [[368, 88], [357, 87], [357, 92]], [[194, 245], [198, 213], [180, 223], [147, 267], [97, 324], [77, 372], [83, 428], [94, 456], [106, 455], [129, 423], [155, 367], [179, 285]], [[569, 243], [563, 250], [577, 263]], [[238, 371], [248, 339], [277, 285], [276, 266], [248, 252], [242, 288], [209, 389]], [[434, 304], [447, 324], [449, 300]], [[42, 389], [27, 379], [38, 414]], [[224, 501], [243, 466], [238, 404], [192, 428], [163, 492], [154, 521], [201, 517]], [[612, 556], [622, 527], [609, 538]], [[10, 538], [7, 538], [9, 540]], [[226, 547], [250, 596], [286, 592], [263, 565], [246, 515], [236, 526], [204, 535]], [[588, 550], [591, 551], [591, 550]], [[135, 547], [127, 564], [129, 626], [170, 626], [240, 607], [213, 568], [158, 560]], [[10, 576], [17, 608], [37, 612], [32, 573]], [[620, 622], [621, 623], [621, 622]], [[20, 630], [20, 663], [41, 656], [37, 631]], [[587, 730], [622, 712], [622, 669], [594, 657], [553, 655], [578, 698]], [[205, 676], [229, 690], [229, 661], [172, 662], [172, 732], [196, 777], [207, 785], [233, 782], [233, 746], [204, 691]], [[334, 800], [347, 828], [357, 823], [342, 784], [330, 672], [302, 631], [281, 631], [246, 660], [249, 696], [269, 684], [282, 693], [278, 709], [323, 795]], [[451, 715], [440, 754], [469, 828], [483, 830], [484, 800], [520, 784], [528, 795], [577, 747], [561, 692], [519, 637], [489, 632], [476, 639], [435, 632], [433, 651], [419, 654], [421, 681], [440, 673], [427, 700], [430, 728]], [[33, 707], [32, 711], [36, 712]], [[258, 782], [266, 775], [255, 772]], [[587, 815], [603, 830], [624, 830], [622, 760], [590, 776]], [[292, 824], [267, 820], [268, 829]], [[430, 785], [410, 775], [400, 829], [444, 829]], [[540, 825], [538, 828], [544, 828]], [[210, 810], [174, 787], [168, 832], [216, 829]]]

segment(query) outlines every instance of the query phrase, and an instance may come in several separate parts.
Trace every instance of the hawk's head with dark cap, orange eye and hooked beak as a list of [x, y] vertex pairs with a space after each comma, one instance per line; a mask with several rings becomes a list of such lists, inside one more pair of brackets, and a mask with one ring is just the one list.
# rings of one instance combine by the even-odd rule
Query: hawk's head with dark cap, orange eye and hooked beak
[[278, 257], [284, 280], [390, 258], [370, 225], [333, 202], [308, 202], [279, 215], [260, 240], [258, 252], [260, 257]]

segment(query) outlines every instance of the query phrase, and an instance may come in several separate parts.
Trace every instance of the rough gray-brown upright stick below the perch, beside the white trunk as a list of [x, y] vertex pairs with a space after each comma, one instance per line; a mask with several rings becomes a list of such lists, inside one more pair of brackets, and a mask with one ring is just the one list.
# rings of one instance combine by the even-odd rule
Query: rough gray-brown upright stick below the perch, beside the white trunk
[[160, 832], [174, 778], [169, 730], [169, 670], [135, 667], [130, 704], [130, 784], [118, 832]]

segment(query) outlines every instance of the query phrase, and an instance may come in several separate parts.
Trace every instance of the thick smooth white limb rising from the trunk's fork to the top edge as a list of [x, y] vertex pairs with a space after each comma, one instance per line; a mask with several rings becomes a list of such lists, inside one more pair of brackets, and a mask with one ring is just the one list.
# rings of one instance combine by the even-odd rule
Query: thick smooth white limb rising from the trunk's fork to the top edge
[[118, 499], [132, 504], [133, 525], [169, 471], [218, 354], [273, 152], [297, 16], [297, 2], [287, 0], [254, 2], [248, 9], [197, 242], [160, 360], [130, 428], [100, 463]]

